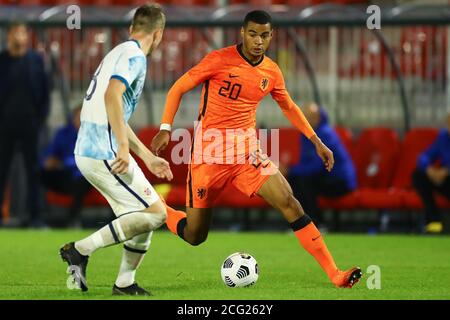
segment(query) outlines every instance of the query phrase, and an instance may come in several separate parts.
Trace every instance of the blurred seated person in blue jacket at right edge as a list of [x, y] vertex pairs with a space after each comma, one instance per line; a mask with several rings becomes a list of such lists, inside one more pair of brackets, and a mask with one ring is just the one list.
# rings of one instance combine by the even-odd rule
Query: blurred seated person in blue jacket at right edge
[[[435, 166], [439, 161], [440, 166]], [[436, 141], [417, 159], [417, 169], [413, 173], [413, 185], [423, 201], [427, 233], [441, 233], [442, 213], [436, 206], [434, 191], [450, 200], [450, 112], [447, 128], [442, 129]]]

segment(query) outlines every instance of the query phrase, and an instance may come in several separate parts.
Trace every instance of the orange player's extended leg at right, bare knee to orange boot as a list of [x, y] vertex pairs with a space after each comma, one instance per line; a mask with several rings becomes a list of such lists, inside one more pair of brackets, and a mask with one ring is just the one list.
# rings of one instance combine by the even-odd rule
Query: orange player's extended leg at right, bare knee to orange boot
[[265, 179], [256, 193], [283, 214], [300, 244], [317, 260], [329, 279], [337, 287], [351, 288], [357, 283], [362, 276], [361, 269], [355, 267], [344, 272], [336, 267], [320, 231], [303, 212], [283, 175], [278, 171]]

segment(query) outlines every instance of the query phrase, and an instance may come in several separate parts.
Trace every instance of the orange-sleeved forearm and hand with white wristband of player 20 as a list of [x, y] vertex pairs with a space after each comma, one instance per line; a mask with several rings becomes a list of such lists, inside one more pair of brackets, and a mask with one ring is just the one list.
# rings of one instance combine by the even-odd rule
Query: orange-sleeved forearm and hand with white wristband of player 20
[[180, 107], [181, 98], [183, 95], [195, 88], [198, 85], [192, 80], [188, 73], [185, 73], [167, 93], [166, 105], [164, 106], [163, 117], [161, 120], [161, 130], [153, 138], [151, 149], [155, 154], [167, 147], [170, 141], [170, 130], [172, 129], [173, 119]]

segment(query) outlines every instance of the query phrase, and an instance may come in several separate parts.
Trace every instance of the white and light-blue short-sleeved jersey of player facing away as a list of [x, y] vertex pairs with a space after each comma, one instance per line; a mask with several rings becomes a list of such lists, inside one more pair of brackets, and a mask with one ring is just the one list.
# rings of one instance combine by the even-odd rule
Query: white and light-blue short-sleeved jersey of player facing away
[[95, 71], [83, 101], [76, 155], [98, 160], [115, 158], [117, 142], [105, 108], [109, 80], [118, 79], [127, 88], [122, 96], [123, 120], [127, 123], [142, 93], [146, 72], [147, 59], [135, 40], [116, 46], [105, 56]]

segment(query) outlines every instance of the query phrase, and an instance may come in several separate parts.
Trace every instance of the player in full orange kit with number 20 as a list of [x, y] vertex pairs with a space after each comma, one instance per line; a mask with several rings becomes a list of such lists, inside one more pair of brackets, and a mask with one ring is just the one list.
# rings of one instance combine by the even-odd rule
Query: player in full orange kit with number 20
[[[183, 94], [203, 83], [199, 124], [191, 146], [186, 213], [167, 206], [166, 224], [174, 234], [191, 245], [204, 242], [211, 222], [212, 203], [224, 186], [232, 183], [246, 195], [252, 197], [257, 194], [278, 209], [300, 244], [317, 260], [332, 283], [337, 287], [351, 288], [361, 278], [361, 269], [339, 270], [319, 230], [303, 212], [291, 187], [275, 165], [259, 153], [255, 144], [250, 143], [254, 148], [236, 145], [236, 141], [242, 138], [242, 132], [251, 132], [256, 127], [257, 106], [270, 93], [289, 121], [315, 145], [326, 169], [331, 171], [333, 168], [333, 153], [321, 142], [290, 98], [278, 65], [265, 56], [272, 33], [272, 18], [267, 12], [257, 10], [248, 13], [241, 29], [242, 44], [209, 53], [169, 90], [160, 131], [151, 145], [156, 153], [169, 143], [171, 125]], [[209, 141], [206, 136], [197, 139], [199, 132], [208, 130], [224, 134], [223, 149], [214, 147], [217, 141]], [[235, 134], [230, 136], [229, 132]], [[247, 134], [244, 140], [251, 138]], [[202, 152], [211, 148], [225, 150], [225, 155], [218, 152], [205, 158]], [[232, 151], [231, 156], [229, 151]]]

